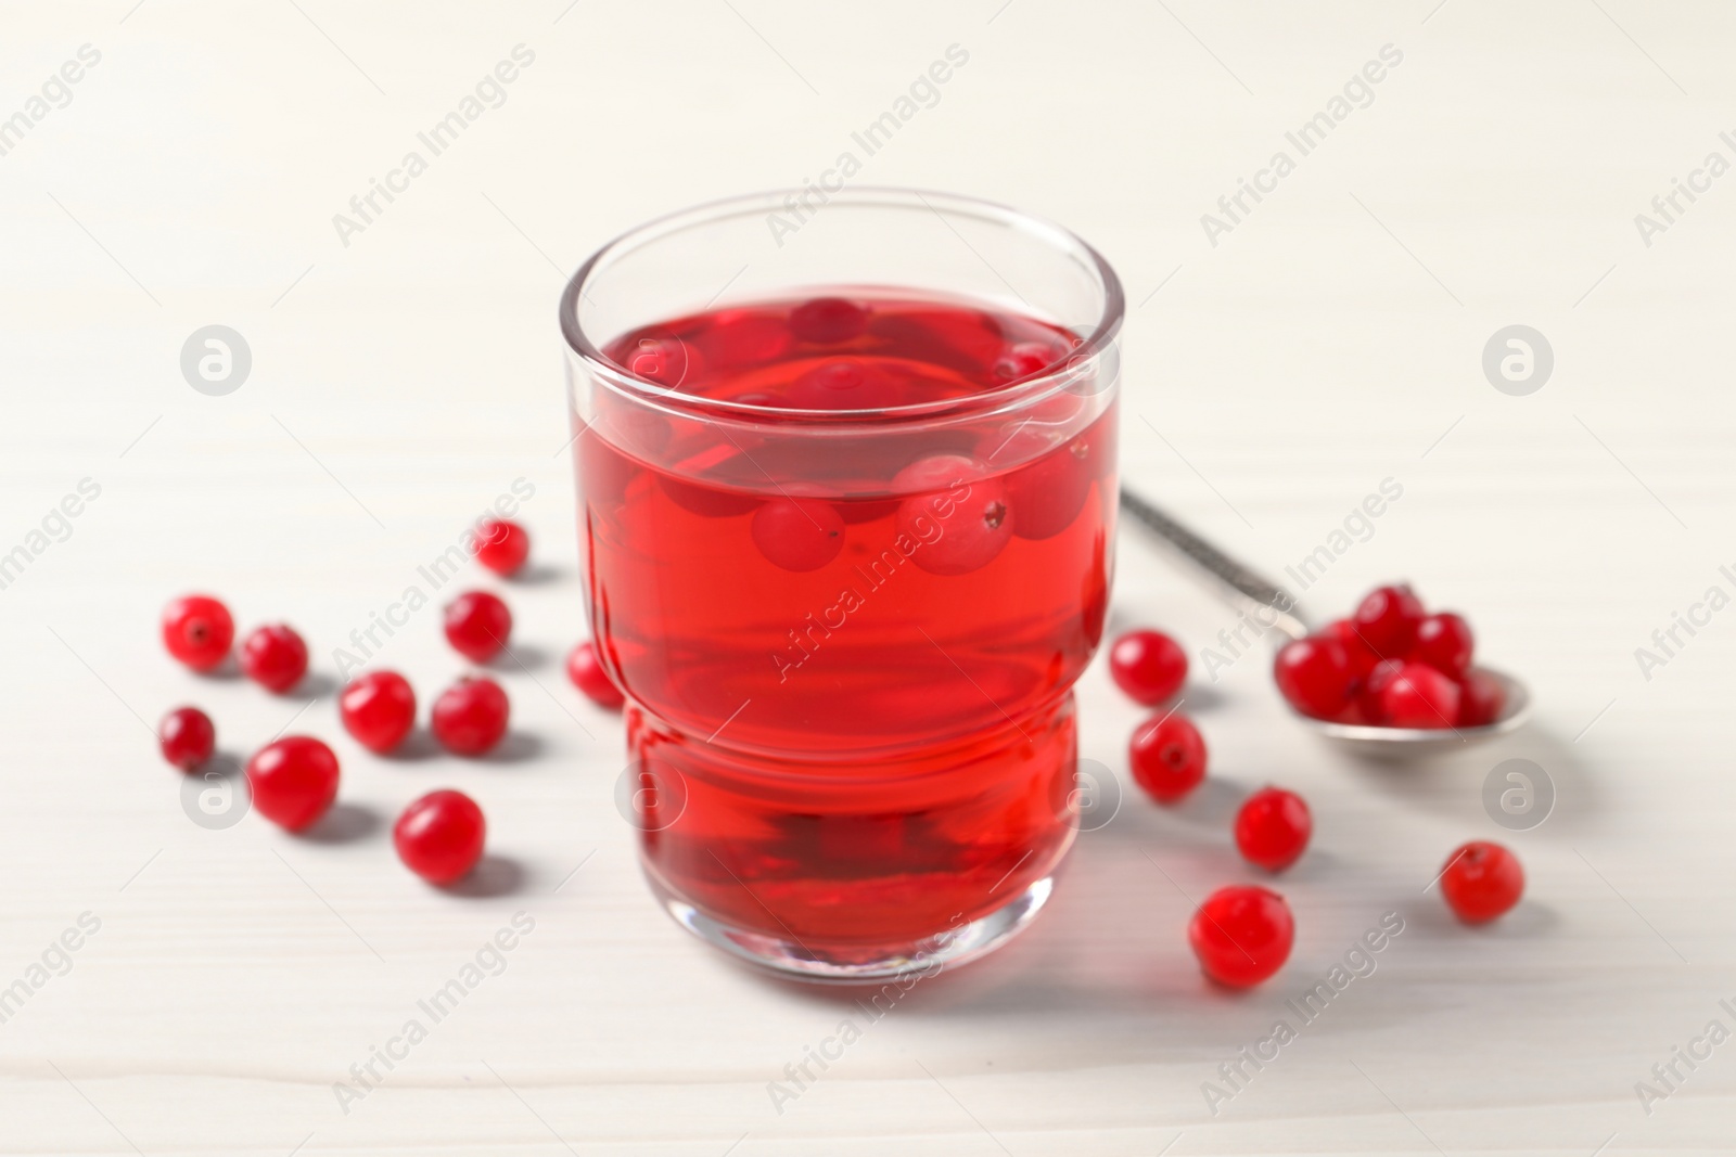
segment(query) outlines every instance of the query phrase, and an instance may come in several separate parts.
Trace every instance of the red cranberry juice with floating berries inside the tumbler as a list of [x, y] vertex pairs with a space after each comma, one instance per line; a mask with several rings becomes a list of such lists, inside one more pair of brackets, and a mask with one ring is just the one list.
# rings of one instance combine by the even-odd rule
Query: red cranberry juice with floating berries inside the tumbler
[[[630, 697], [644, 860], [667, 892], [866, 952], [983, 916], [1059, 862], [1068, 690], [1113, 567], [1113, 402], [908, 408], [1016, 394], [1076, 345], [887, 295], [609, 345], [681, 402], [599, 390], [578, 439], [592, 628]], [[755, 409], [694, 418], [693, 397]]]

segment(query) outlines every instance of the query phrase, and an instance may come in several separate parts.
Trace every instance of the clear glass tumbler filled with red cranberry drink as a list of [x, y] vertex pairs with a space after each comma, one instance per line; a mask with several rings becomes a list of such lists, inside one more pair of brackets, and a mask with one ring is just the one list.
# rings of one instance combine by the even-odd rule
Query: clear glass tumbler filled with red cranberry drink
[[1115, 567], [1121, 312], [1071, 232], [908, 189], [703, 205], [573, 276], [587, 607], [686, 928], [868, 980], [1049, 899]]

